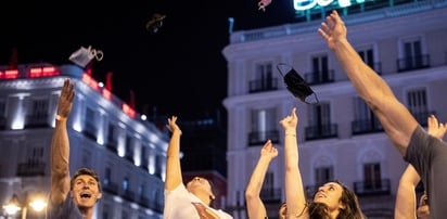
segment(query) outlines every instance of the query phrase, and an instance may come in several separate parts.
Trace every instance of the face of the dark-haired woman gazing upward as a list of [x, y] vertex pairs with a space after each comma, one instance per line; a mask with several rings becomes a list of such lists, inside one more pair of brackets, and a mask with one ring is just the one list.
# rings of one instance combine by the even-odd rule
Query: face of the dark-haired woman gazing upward
[[328, 182], [318, 189], [318, 192], [314, 196], [314, 202], [324, 203], [328, 205], [330, 211], [339, 210], [339, 208], [344, 208], [340, 202], [342, 193], [342, 185], [336, 182]]

